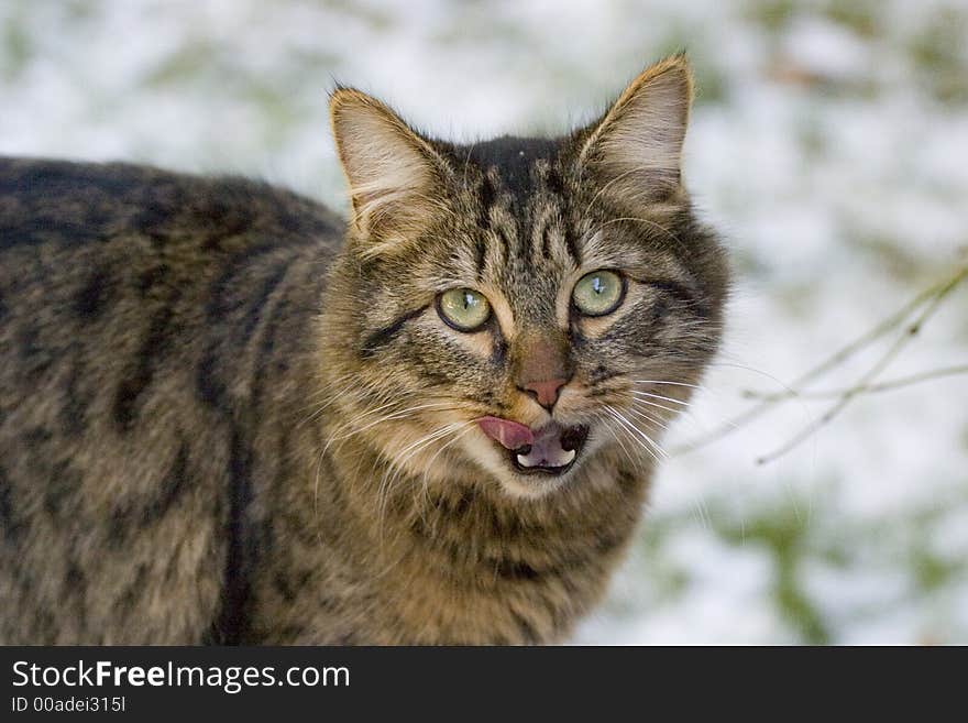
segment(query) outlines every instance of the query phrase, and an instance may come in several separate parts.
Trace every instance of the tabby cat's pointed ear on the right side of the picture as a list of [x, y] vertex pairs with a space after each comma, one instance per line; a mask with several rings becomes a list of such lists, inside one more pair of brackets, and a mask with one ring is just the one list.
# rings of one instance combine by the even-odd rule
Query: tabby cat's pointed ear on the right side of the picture
[[592, 168], [616, 198], [634, 205], [667, 199], [680, 188], [691, 103], [692, 73], [685, 55], [660, 61], [584, 130], [580, 165]]

